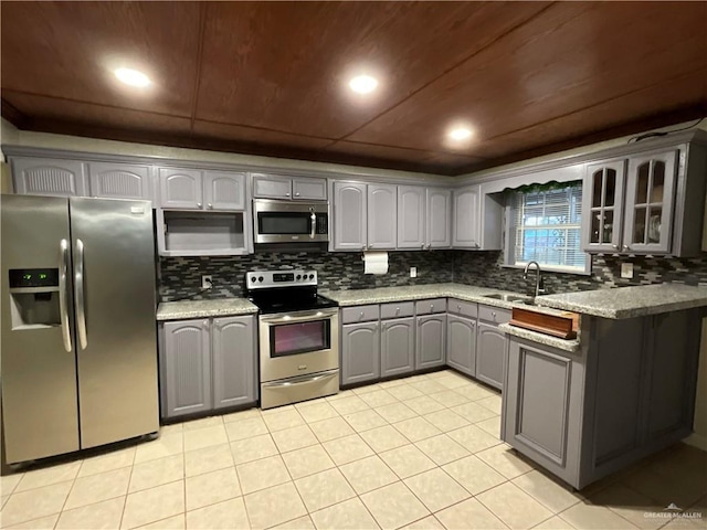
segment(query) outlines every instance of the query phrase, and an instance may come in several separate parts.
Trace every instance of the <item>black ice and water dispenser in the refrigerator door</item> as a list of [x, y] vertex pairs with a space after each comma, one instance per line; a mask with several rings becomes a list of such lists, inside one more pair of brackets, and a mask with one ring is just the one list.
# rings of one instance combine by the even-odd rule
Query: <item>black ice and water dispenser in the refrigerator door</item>
[[60, 326], [59, 268], [13, 268], [9, 274], [12, 329]]

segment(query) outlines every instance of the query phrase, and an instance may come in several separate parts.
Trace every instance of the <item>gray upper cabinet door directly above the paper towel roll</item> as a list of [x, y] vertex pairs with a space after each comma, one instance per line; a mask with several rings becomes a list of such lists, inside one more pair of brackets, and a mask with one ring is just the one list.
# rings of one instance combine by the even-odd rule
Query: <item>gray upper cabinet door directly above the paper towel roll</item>
[[395, 248], [398, 187], [368, 184], [368, 248]]

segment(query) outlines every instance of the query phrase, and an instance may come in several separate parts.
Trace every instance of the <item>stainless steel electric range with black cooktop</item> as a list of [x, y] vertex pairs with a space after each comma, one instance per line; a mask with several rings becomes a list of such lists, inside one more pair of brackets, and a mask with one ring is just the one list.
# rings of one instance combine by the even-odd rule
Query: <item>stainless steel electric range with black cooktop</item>
[[339, 391], [339, 311], [317, 294], [316, 271], [245, 274], [260, 308], [261, 407]]

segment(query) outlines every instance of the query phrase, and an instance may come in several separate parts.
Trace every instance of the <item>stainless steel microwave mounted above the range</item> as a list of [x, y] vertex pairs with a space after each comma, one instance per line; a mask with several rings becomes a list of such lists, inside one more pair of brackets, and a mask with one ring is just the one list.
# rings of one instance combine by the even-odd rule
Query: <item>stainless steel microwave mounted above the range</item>
[[255, 243], [319, 243], [329, 241], [326, 201], [253, 200]]

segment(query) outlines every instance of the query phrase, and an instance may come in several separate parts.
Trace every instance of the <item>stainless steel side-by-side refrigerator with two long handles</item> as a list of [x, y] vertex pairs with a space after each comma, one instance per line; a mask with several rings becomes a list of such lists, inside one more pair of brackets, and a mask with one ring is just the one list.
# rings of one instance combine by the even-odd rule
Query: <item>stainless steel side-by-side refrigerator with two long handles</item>
[[7, 462], [157, 432], [151, 204], [0, 200]]

